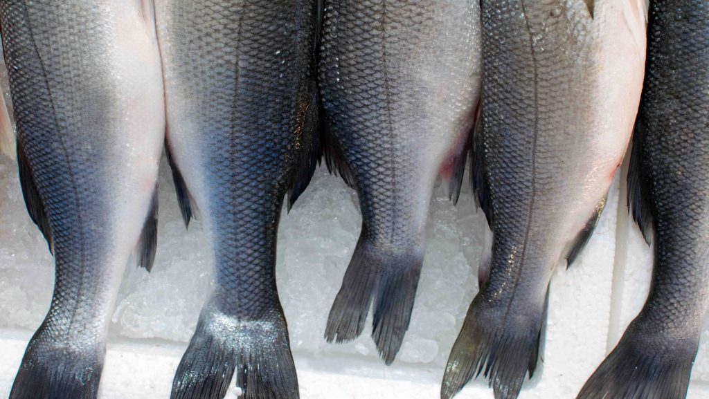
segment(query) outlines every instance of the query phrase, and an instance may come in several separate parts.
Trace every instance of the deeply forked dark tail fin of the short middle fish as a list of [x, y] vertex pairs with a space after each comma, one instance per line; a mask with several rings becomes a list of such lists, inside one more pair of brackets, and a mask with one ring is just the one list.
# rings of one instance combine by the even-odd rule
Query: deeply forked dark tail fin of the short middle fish
[[325, 339], [359, 337], [374, 299], [372, 338], [384, 363], [393, 363], [411, 320], [422, 262], [420, 254], [392, 254], [360, 239], [330, 310]]

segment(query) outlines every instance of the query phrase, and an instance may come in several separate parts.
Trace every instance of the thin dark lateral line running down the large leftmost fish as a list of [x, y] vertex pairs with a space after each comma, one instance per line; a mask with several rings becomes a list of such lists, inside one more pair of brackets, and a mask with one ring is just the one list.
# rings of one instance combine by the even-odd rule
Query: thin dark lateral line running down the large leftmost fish
[[[69, 156], [67, 155], [67, 145], [66, 145], [64, 139], [62, 138], [59, 120], [57, 120], [57, 109], [54, 106], [54, 96], [52, 96], [52, 90], [50, 89], [50, 86], [49, 86], [49, 79], [47, 77], [47, 67], [45, 67], [44, 60], [42, 59], [42, 55], [40, 55], [39, 48], [37, 47], [37, 42], [35, 41], [35, 35], [34, 35], [33, 29], [32, 29], [32, 25], [29, 22], [30, 21], [29, 12], [27, 11], [27, 5], [25, 4], [24, 1], [23, 1], [23, 9], [26, 14], [26, 21], [28, 21], [27, 22], [27, 29], [29, 30], [29, 33], [30, 33], [30, 40], [32, 41], [32, 47], [34, 48], [35, 54], [37, 55], [37, 59], [40, 62], [40, 67], [42, 67], [42, 77], [45, 81], [45, 87], [47, 87], [47, 95], [49, 97], [50, 106], [52, 107], [52, 117], [54, 118], [54, 124], [55, 124], [55, 127], [57, 128], [57, 140], [59, 141], [59, 145], [62, 148], [62, 155], [63, 155], [63, 158], [65, 159], [66, 164], [67, 164], [67, 174], [69, 175], [69, 180], [72, 182], [72, 193], [74, 194], [74, 201], [77, 204], [76, 217], [77, 217], [79, 225], [83, 226], [84, 225], [84, 218], [82, 217], [81, 201], [79, 201], [79, 193], [77, 192], [77, 184], [76, 184], [74, 171], [72, 170], [72, 164], [71, 164], [71, 162], [69, 162]], [[80, 250], [82, 253], [82, 255], [81, 255], [82, 256], [82, 264], [86, 264], [86, 251], [84, 250], [84, 243], [86, 242], [86, 237], [84, 237], [84, 230], [85, 229], [83, 229], [83, 228], [79, 229], [79, 234], [81, 235], [81, 238], [82, 238], [81, 240], [79, 240], [79, 247], [80, 247]], [[56, 250], [56, 247], [55, 247], [55, 250]], [[57, 252], [54, 253], [54, 258], [55, 258], [55, 265], [56, 265], [57, 264]], [[84, 281], [85, 281], [84, 276], [86, 275], [86, 267], [79, 267], [79, 270], [81, 271], [81, 276], [79, 277], [80, 281], [81, 281], [81, 287], [79, 287], [80, 288], [79, 292], [84, 292], [85, 291], [84, 290]], [[56, 284], [57, 284], [57, 282], [55, 282], [55, 286], [56, 286]], [[78, 300], [79, 300], [79, 298], [74, 298], [74, 301], [73, 301], [74, 303], [72, 303], [72, 317], [71, 317], [71, 321], [69, 322], [70, 326], [74, 325], [74, 319], [76, 318], [76, 315], [77, 315], [76, 303], [78, 302]], [[52, 300], [52, 302], [54, 302], [54, 301]], [[50, 304], [50, 309], [51, 309], [51, 306], [52, 306], [52, 304]], [[62, 335], [62, 338], [66, 337], [66, 335], [68, 334], [68, 331], [60, 332], [60, 334]]]

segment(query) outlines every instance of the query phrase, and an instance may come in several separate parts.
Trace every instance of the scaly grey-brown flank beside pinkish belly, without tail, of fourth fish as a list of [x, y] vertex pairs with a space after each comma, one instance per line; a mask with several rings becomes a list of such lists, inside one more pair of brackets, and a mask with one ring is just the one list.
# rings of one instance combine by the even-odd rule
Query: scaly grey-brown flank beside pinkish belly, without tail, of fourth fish
[[586, 67], [574, 66], [584, 42], [567, 34], [583, 35], [584, 24], [566, 18], [573, 13], [563, 1], [483, 3], [484, 164], [495, 236], [484, 296], [508, 302], [528, 282], [538, 308], [549, 270], [573, 238], [564, 222], [595, 140], [576, 120], [590, 100], [581, 94], [593, 89]]

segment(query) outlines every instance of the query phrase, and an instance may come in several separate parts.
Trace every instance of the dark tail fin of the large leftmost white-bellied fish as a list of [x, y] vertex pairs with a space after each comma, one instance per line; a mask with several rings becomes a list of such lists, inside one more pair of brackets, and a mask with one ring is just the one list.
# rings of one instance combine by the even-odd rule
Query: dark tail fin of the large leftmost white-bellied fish
[[35, 333], [15, 377], [10, 399], [96, 399], [105, 349], [62, 344]]

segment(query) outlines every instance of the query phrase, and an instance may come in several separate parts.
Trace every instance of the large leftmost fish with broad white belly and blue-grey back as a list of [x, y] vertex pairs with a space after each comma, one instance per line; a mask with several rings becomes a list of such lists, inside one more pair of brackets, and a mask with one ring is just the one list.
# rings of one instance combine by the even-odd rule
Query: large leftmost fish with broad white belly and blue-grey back
[[164, 103], [150, 11], [0, 1], [19, 179], [56, 266], [11, 399], [95, 399], [125, 266], [152, 267]]

